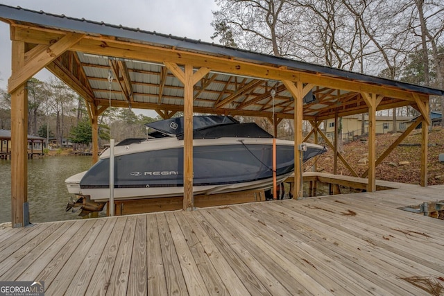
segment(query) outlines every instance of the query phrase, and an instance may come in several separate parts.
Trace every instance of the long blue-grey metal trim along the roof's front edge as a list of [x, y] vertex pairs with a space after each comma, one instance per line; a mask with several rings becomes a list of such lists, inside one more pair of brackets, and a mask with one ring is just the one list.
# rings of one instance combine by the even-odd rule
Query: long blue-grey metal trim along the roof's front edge
[[322, 73], [328, 76], [346, 78], [348, 80], [358, 80], [361, 82], [368, 82], [377, 85], [388, 85], [400, 89], [406, 89], [412, 92], [444, 96], [444, 91], [441, 89], [434, 89], [431, 87], [424, 87], [420, 85], [411, 85], [406, 82], [389, 80], [375, 76], [368, 76], [365, 74], [346, 71], [343, 69], [310, 64], [307, 62], [275, 57], [273, 55], [265, 55], [263, 53], [254, 53], [242, 49], [233, 49], [219, 44], [202, 42], [200, 40], [191, 40], [186, 37], [176, 37], [173, 35], [164, 35], [156, 32], [143, 31], [139, 28], [129, 28], [121, 25], [117, 26], [106, 24], [104, 22], [66, 17], [65, 15], [54, 15], [43, 11], [37, 12], [35, 10], [21, 8], [19, 6], [17, 6], [17, 8], [14, 8], [12, 6], [0, 4], [0, 18], [10, 19], [13, 21], [24, 21], [28, 23], [38, 24], [40, 26], [65, 29], [69, 31], [121, 37], [126, 38], [127, 40], [137, 40], [148, 42], [150, 44], [162, 44], [164, 46], [172, 46], [182, 50], [211, 53], [212, 55], [227, 55], [232, 58], [238, 58], [240, 60], [274, 64], [277, 67], [287, 67], [288, 69], [294, 69], [297, 71]]

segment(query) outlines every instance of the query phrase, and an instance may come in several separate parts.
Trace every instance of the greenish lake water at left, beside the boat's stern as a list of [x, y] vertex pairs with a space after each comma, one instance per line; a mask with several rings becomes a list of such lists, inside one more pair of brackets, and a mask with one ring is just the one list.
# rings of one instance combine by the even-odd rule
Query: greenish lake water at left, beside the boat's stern
[[[92, 166], [90, 156], [54, 156], [28, 160], [28, 203], [31, 223], [80, 218], [66, 212], [71, 194], [65, 179]], [[0, 160], [0, 223], [11, 220], [11, 162]]]

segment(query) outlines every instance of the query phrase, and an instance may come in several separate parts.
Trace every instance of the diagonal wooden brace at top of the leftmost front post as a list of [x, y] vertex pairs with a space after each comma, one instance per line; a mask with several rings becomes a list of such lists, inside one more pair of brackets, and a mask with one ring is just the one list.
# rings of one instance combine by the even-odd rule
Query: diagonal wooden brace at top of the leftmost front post
[[22, 85], [26, 80], [33, 77], [35, 73], [43, 69], [47, 64], [56, 60], [56, 58], [67, 51], [72, 45], [83, 38], [84, 34], [67, 33], [58, 42], [51, 46], [39, 48], [38, 53], [33, 53], [33, 58], [29, 59], [19, 71], [11, 75], [8, 80], [8, 92], [12, 93]]

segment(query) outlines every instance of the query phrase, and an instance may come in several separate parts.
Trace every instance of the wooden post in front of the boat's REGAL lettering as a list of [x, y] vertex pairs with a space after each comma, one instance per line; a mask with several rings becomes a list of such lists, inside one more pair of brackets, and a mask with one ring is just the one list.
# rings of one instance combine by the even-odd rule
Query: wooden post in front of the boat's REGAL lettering
[[183, 139], [183, 209], [192, 211], [194, 208], [193, 193], [193, 67], [185, 65], [184, 83], [184, 139]]

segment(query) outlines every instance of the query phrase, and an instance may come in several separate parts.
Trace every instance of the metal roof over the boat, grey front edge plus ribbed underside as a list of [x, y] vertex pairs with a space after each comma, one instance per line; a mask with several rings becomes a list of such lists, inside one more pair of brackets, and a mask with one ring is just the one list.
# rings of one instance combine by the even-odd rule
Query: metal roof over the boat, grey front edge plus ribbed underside
[[[439, 89], [411, 85], [395, 80], [377, 78], [360, 73], [335, 69], [331, 67], [310, 64], [278, 58], [272, 55], [264, 55], [233, 49], [219, 44], [201, 42], [200, 40], [190, 40], [185, 37], [164, 35], [156, 32], [143, 31], [139, 28], [128, 28], [105, 24], [103, 22], [89, 21], [66, 17], [65, 15], [53, 15], [46, 12], [37, 12], [24, 8], [13, 8], [0, 4], [0, 19], [6, 21], [11, 26], [29, 26], [36, 29], [45, 28], [53, 31], [85, 33], [88, 36], [112, 37], [112, 40], [128, 42], [130, 44], [146, 44], [156, 46], [160, 49], [173, 49], [178, 52], [198, 53], [203, 57], [223, 58], [227, 61], [241, 61], [250, 64], [258, 64], [273, 69], [286, 69], [297, 71], [297, 73], [310, 73], [322, 78], [337, 78], [350, 82], [362, 82], [368, 85], [385, 87], [386, 89], [402, 90], [402, 92], [417, 92], [426, 95], [442, 96], [444, 92]], [[162, 63], [150, 62], [149, 60], [133, 60], [123, 57], [112, 57], [112, 55], [95, 55], [81, 51], [67, 52], [58, 64], [63, 65], [64, 60], [74, 60], [70, 68], [79, 66], [81, 73], [85, 76], [85, 89], [93, 94], [94, 99], [101, 100], [104, 105], [105, 100], [110, 98], [113, 102], [120, 102], [120, 107], [126, 105], [133, 107], [146, 107], [151, 109], [172, 110], [174, 106], [183, 105], [183, 87], [181, 82], [169, 71], [165, 70]], [[73, 61], [71, 61], [73, 62]], [[108, 75], [114, 63], [115, 73], [119, 79], [114, 77], [111, 84], [108, 82]], [[119, 65], [117, 65], [119, 63]], [[69, 68], [69, 67], [67, 67]], [[51, 69], [50, 69], [51, 70]], [[122, 85], [123, 77], [121, 72], [126, 72], [130, 80], [130, 89], [125, 89]], [[123, 74], [125, 75], [125, 74]], [[80, 77], [80, 76], [78, 76]], [[78, 80], [81, 80], [78, 78]], [[359, 92], [349, 92], [341, 89], [334, 89], [330, 85], [322, 85], [323, 80], [319, 80], [320, 85], [312, 89], [312, 94], [307, 97], [304, 105], [304, 114], [308, 117], [331, 116], [334, 112], [343, 112], [343, 115], [361, 113], [365, 103], [359, 97]], [[276, 90], [276, 96], [271, 98], [270, 90]], [[313, 96], [313, 99], [311, 99]], [[402, 102], [400, 98], [387, 96], [381, 102], [381, 109], [384, 106], [409, 105], [409, 102]], [[194, 107], [198, 112], [234, 112], [237, 114], [271, 114], [273, 110], [280, 116], [291, 118], [293, 114], [293, 98], [290, 92], [285, 89], [282, 82], [277, 80], [266, 80], [264, 77], [236, 76], [232, 73], [222, 73], [210, 71], [202, 80], [194, 86]], [[156, 107], [157, 106], [157, 107]]]

